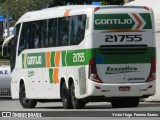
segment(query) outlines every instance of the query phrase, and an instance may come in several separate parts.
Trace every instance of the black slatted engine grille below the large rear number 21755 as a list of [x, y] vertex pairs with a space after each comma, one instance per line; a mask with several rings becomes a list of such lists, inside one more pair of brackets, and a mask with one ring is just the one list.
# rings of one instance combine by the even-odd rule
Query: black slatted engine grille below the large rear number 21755
[[148, 49], [147, 45], [101, 45], [101, 54], [144, 54]]

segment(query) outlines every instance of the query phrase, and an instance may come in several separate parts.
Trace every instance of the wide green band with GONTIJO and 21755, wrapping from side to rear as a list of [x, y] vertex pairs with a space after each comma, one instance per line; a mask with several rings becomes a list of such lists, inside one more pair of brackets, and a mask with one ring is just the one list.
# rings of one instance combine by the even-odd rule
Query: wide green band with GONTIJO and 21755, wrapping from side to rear
[[[62, 51], [62, 66], [88, 65], [91, 58], [95, 58], [97, 64], [136, 64], [150, 63], [155, 56], [155, 48], [149, 47], [143, 54], [104, 54], [99, 48]], [[51, 67], [54, 67], [55, 52], [51, 54]], [[45, 53], [28, 53], [27, 60], [22, 54], [22, 67], [26, 61], [27, 68], [46, 67]]]

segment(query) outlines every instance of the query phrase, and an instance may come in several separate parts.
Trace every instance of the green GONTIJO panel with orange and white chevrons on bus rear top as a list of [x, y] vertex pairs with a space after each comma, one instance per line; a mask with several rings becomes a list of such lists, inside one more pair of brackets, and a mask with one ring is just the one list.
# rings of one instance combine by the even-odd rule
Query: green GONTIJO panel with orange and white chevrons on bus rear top
[[95, 14], [94, 19], [95, 30], [139, 30], [152, 28], [151, 17], [149, 13]]

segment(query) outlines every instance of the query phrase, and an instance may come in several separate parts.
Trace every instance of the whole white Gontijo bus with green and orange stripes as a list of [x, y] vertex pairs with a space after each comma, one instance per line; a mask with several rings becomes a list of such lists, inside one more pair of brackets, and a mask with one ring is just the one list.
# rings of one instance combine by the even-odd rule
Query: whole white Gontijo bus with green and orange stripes
[[12, 98], [24, 108], [49, 101], [62, 101], [65, 109], [97, 101], [138, 106], [155, 94], [153, 21], [148, 7], [64, 6], [24, 14], [11, 40]]

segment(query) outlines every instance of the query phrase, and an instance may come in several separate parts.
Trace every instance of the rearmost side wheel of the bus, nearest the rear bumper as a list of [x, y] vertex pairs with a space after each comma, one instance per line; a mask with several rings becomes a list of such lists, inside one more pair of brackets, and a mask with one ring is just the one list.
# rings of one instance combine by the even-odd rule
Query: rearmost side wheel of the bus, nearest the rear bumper
[[86, 105], [86, 102], [83, 101], [82, 99], [77, 99], [75, 97], [74, 84], [71, 85], [70, 89], [71, 89], [71, 101], [72, 101], [73, 109], [82, 109]]

